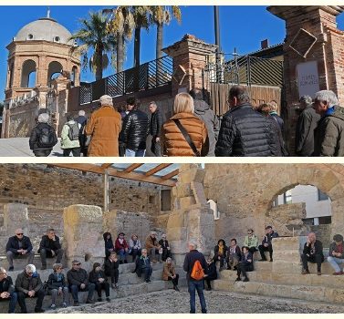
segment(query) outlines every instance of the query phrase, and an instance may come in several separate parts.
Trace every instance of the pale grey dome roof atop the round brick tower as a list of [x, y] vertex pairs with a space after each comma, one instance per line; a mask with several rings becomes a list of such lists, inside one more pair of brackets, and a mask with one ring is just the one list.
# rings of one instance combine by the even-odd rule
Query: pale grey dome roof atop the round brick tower
[[63, 44], [68, 43], [71, 33], [65, 26], [61, 26], [50, 17], [43, 17], [23, 26], [14, 37], [14, 41], [46, 40]]

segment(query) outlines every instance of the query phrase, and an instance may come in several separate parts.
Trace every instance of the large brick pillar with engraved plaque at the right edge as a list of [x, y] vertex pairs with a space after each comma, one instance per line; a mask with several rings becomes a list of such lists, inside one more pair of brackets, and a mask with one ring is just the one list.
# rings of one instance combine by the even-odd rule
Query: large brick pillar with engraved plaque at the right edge
[[[321, 89], [333, 90], [344, 104], [344, 33], [337, 29], [339, 5], [271, 5], [273, 15], [286, 20], [284, 81], [287, 144], [295, 153], [298, 99]], [[298, 73], [298, 75], [297, 75]]]

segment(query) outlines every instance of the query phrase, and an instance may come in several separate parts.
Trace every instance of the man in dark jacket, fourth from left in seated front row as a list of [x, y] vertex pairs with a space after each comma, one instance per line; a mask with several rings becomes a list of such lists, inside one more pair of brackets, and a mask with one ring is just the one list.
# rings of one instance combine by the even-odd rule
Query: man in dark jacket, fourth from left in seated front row
[[81, 262], [74, 260], [72, 262], [72, 269], [70, 269], [67, 273], [67, 279], [69, 283], [69, 289], [72, 293], [72, 297], [74, 300], [75, 306], [78, 306], [78, 292], [87, 292], [88, 299], [86, 300], [86, 304], [94, 304], [93, 302], [93, 293], [96, 288], [94, 283], [89, 283], [88, 273], [85, 269], [82, 269]]

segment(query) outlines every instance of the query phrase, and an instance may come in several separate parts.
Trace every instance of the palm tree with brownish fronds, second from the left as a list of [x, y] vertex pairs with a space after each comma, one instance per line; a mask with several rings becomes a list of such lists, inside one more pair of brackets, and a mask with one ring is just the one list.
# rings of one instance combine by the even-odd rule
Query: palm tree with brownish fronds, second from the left
[[108, 31], [116, 37], [116, 71], [121, 72], [124, 64], [125, 41], [132, 36], [135, 26], [134, 18], [130, 11], [130, 5], [104, 9], [103, 13], [110, 15]]

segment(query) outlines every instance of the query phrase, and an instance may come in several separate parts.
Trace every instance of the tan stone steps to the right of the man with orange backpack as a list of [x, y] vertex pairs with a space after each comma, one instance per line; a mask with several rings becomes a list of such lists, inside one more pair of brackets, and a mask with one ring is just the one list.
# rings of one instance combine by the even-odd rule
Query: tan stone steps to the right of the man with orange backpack
[[[249, 282], [237, 282], [236, 272], [224, 270], [214, 281], [214, 290], [235, 293], [254, 293], [280, 298], [294, 298], [312, 302], [344, 302], [344, 276], [334, 276], [328, 262], [322, 264], [321, 276], [316, 273], [315, 264], [309, 264], [311, 274], [273, 273], [273, 262], [255, 262], [255, 271], [248, 273]], [[324, 274], [324, 270], [328, 273]]]

